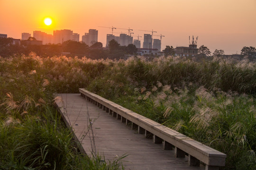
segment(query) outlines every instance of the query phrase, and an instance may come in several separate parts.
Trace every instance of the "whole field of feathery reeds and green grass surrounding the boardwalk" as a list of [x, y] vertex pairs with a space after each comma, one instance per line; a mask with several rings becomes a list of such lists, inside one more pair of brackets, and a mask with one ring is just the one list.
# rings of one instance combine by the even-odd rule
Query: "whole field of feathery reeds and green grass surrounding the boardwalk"
[[54, 93], [78, 88], [226, 153], [223, 170], [256, 169], [255, 61], [35, 53], [0, 58], [0, 169], [122, 168], [121, 160], [102, 163], [97, 155], [89, 159], [77, 151], [55, 110]]

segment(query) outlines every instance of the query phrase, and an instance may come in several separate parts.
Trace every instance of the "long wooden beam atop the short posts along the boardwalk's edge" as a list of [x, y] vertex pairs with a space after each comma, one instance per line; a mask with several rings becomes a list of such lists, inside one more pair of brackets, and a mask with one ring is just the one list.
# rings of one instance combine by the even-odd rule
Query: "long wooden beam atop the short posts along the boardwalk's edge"
[[[136, 123], [139, 127], [144, 128], [146, 131], [153, 133], [156, 136], [161, 137], [165, 141], [170, 144], [177, 146], [179, 149], [183, 150], [184, 152], [188, 153], [189, 155], [194, 156], [197, 159], [200, 159], [204, 163], [208, 165], [225, 165], [225, 158], [226, 154], [221, 153], [213, 148], [210, 148], [206, 145], [203, 145], [193, 139], [180, 134], [173, 129], [160, 125], [153, 120], [146, 119], [145, 117], [134, 113], [131, 110], [123, 108], [111, 101], [106, 99], [102, 99], [102, 97], [98, 96], [97, 94], [93, 94], [87, 90], [80, 89], [81, 93], [86, 93], [86, 95], [91, 95], [95, 99], [98, 98], [99, 100], [104, 101], [105, 105], [109, 105], [113, 107], [113, 109], [120, 114], [122, 117], [129, 119], [133, 123]], [[209, 158], [210, 157], [210, 158]]]

